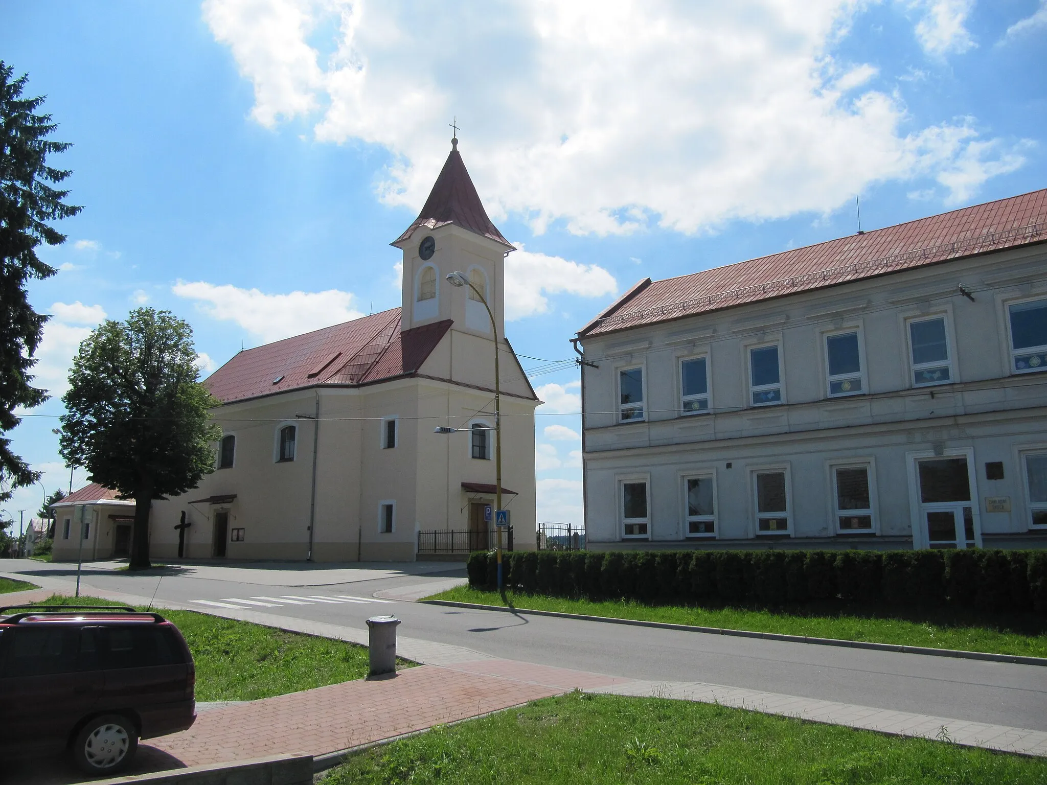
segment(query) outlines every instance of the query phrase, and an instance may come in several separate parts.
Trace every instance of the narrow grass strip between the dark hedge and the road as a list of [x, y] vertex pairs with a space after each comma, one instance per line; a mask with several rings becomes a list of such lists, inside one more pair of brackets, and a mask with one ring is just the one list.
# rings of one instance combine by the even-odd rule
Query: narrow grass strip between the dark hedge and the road
[[[589, 602], [512, 592], [507, 597], [513, 607], [521, 609], [1047, 657], [1047, 619], [1032, 614], [1008, 616], [974, 611], [963, 613], [948, 608], [926, 611], [892, 608], [873, 613], [867, 608], [848, 610], [846, 607], [823, 609], [821, 612], [810, 608], [774, 612], [739, 608], [651, 606], [623, 601]], [[480, 591], [469, 586], [459, 586], [427, 599], [506, 605], [498, 592]]]

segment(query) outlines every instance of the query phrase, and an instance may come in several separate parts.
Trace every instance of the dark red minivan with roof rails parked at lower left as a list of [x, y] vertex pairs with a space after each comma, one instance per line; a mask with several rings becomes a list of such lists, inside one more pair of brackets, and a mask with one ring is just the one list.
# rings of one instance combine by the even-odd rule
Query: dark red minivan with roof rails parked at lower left
[[193, 724], [195, 683], [185, 640], [158, 613], [0, 608], [0, 756], [68, 750], [86, 773], [112, 775], [138, 739]]

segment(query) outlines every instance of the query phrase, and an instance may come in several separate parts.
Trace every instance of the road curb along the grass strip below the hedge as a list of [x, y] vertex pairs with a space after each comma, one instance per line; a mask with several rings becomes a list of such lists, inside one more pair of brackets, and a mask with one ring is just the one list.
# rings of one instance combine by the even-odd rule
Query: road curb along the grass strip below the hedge
[[962, 651], [960, 649], [932, 649], [927, 646], [901, 646], [899, 644], [875, 644], [867, 641], [842, 641], [836, 637], [808, 637], [807, 635], [784, 635], [778, 632], [754, 632], [752, 630], [731, 630], [721, 627], [698, 627], [690, 624], [671, 624], [669, 622], [645, 622], [638, 619], [617, 619], [615, 616], [594, 616], [586, 613], [564, 613], [557, 610], [531, 610], [528, 608], [507, 608], [502, 605], [480, 605], [477, 603], [459, 603], [450, 600], [421, 600], [428, 605], [448, 605], [454, 608], [472, 608], [474, 610], [500, 610], [507, 613], [527, 613], [536, 616], [556, 616], [558, 619], [577, 619], [584, 622], [605, 622], [607, 624], [626, 624], [632, 627], [654, 627], [663, 630], [680, 630], [682, 632], [705, 632], [712, 635], [733, 635], [735, 637], [758, 637], [764, 641], [784, 641], [790, 644], [817, 644], [819, 646], [841, 646], [850, 649], [871, 649], [873, 651], [893, 651], [904, 654], [927, 654], [933, 657], [957, 657], [959, 659], [982, 659], [988, 663], [1011, 663], [1013, 665], [1035, 665], [1047, 667], [1047, 657], [1027, 657], [1021, 654], [992, 654], [984, 651]]

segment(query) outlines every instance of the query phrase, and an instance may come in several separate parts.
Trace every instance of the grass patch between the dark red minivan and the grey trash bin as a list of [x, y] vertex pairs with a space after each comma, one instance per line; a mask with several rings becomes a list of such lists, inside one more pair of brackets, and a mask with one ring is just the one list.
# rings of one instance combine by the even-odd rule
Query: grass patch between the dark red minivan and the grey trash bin
[[[52, 597], [42, 605], [114, 605]], [[157, 609], [185, 636], [196, 663], [197, 700], [254, 700], [367, 675], [367, 649], [192, 610]], [[401, 660], [398, 667], [414, 663]]]

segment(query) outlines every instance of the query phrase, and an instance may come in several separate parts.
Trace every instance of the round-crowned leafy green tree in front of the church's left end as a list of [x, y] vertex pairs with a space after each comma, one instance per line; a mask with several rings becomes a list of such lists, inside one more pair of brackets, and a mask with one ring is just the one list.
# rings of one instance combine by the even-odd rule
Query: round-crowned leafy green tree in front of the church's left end
[[83, 343], [62, 401], [60, 452], [94, 483], [135, 501], [131, 569], [149, 560], [153, 499], [196, 488], [215, 470], [220, 401], [197, 381], [193, 329], [170, 311], [137, 308]]

